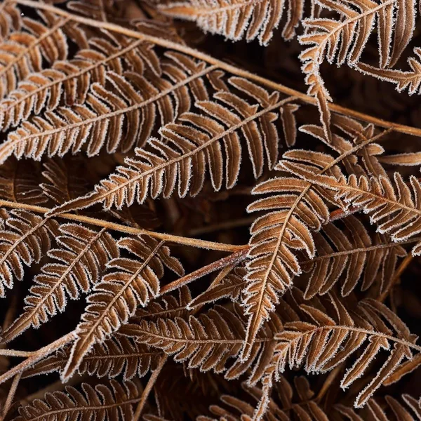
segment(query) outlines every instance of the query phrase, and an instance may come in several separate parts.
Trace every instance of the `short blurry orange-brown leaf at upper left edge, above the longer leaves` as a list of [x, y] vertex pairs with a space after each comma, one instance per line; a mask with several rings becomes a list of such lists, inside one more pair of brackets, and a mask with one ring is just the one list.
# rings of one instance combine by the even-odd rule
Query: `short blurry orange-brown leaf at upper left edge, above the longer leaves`
[[[22, 18], [27, 32], [13, 32], [0, 44], [0, 99], [16, 88], [29, 73], [40, 72], [42, 60], [53, 63], [67, 58], [67, 41], [62, 26], [67, 19], [41, 15], [46, 23]], [[49, 18], [49, 19], [48, 19]]]

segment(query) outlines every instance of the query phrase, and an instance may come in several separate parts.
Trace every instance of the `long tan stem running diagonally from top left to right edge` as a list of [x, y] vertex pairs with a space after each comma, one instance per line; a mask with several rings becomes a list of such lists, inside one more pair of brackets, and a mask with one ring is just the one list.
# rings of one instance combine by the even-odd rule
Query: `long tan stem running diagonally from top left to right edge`
[[[218, 66], [220, 69], [223, 69], [226, 72], [229, 72], [231, 74], [236, 74], [237, 76], [241, 76], [246, 79], [256, 81], [258, 83], [261, 83], [264, 86], [275, 89], [276, 91], [280, 91], [281, 93], [284, 93], [286, 95], [293, 95], [295, 97], [298, 97], [300, 100], [302, 100], [303, 102], [307, 102], [308, 104], [316, 105], [317, 103], [316, 98], [310, 95], [307, 95], [300, 91], [295, 91], [295, 89], [288, 88], [287, 86], [281, 85], [281, 83], [276, 83], [262, 76], [258, 76], [257, 74], [253, 74], [251, 72], [247, 72], [246, 70], [239, 69], [239, 67], [236, 67], [234, 65], [229, 65], [228, 63], [218, 60], [216, 58], [213, 58], [212, 56], [206, 53], [202, 53], [201, 51], [197, 51], [194, 48], [191, 48], [189, 46], [178, 44], [177, 42], [174, 42], [174, 41], [169, 41], [168, 39], [161, 39], [157, 36], [142, 34], [141, 32], [135, 31], [133, 29], [127, 29], [125, 27], [121, 27], [120, 25], [116, 25], [109, 22], [98, 22], [98, 20], [74, 15], [73, 13], [69, 13], [60, 8], [51, 6], [49, 4], [44, 4], [38, 1], [34, 1], [34, 0], [13, 0], [13, 2], [17, 4], [29, 6], [32, 8], [36, 8], [39, 10], [50, 11], [51, 13], [54, 13], [55, 15], [65, 16], [66, 18], [69, 18], [73, 20], [74, 22], [79, 22], [83, 25], [88, 25], [91, 27], [100, 27], [102, 29], [108, 29], [109, 31], [117, 32], [119, 34], [123, 34], [126, 36], [130, 36], [131, 38], [142, 39], [145, 41], [149, 41], [152, 44], [156, 44], [158, 46], [163, 46], [171, 50], [180, 51], [181, 53], [185, 53], [185, 54], [191, 55], [192, 57], [198, 58], [199, 60], [208, 62], [211, 65]], [[368, 123], [373, 123], [376, 126], [380, 126], [384, 128], [393, 128], [394, 131], [399, 132], [399, 133], [406, 133], [408, 135], [421, 136], [421, 128], [406, 126], [404, 124], [397, 124], [397, 123], [393, 123], [392, 121], [378, 119], [377, 117], [355, 111], [354, 109], [341, 107], [340, 105], [333, 104], [332, 102], [328, 103], [328, 107], [333, 112], [338, 112], [340, 114], [351, 116], [356, 119], [366, 121]]]

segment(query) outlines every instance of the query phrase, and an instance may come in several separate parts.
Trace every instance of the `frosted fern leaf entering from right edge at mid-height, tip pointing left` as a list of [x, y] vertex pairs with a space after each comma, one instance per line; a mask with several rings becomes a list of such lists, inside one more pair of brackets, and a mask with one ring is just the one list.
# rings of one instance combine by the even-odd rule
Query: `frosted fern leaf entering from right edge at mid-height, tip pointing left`
[[[355, 208], [361, 208], [370, 215], [370, 222], [377, 225], [382, 234], [389, 234], [393, 241], [413, 239], [421, 232], [421, 183], [410, 176], [409, 186], [399, 173], [394, 173], [394, 182], [387, 176], [349, 178], [344, 175], [332, 177], [322, 175], [312, 159], [302, 160], [295, 152], [286, 152], [279, 164], [285, 171], [314, 182], [325, 189], [335, 191], [338, 200]], [[326, 155], [326, 159], [333, 161]], [[413, 255], [421, 254], [421, 241], [412, 250]]]

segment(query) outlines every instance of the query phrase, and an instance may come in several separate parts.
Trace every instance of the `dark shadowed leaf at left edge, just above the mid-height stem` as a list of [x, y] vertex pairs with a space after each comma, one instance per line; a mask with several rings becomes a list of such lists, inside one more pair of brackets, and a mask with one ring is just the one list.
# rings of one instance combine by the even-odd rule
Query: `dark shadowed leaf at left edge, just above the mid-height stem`
[[32, 161], [8, 159], [0, 167], [0, 198], [28, 205], [42, 205], [48, 201], [39, 186], [41, 172]]

